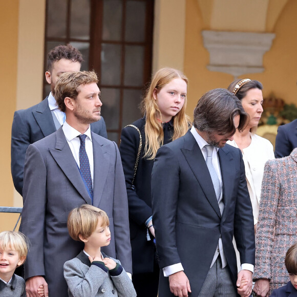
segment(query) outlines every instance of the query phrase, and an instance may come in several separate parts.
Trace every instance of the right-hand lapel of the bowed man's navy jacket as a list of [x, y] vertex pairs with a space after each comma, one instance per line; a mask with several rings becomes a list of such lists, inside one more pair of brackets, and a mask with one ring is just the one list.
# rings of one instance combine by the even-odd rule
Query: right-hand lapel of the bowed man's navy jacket
[[231, 181], [234, 181], [234, 170], [230, 170], [232, 167], [233, 157], [229, 154], [229, 150], [226, 146], [221, 147], [218, 152], [219, 160], [220, 160], [220, 169], [222, 175], [222, 183], [223, 183], [223, 202], [224, 202], [224, 211], [223, 217], [228, 213], [227, 208], [230, 205], [230, 199], [232, 197], [232, 190], [234, 187], [230, 185]]

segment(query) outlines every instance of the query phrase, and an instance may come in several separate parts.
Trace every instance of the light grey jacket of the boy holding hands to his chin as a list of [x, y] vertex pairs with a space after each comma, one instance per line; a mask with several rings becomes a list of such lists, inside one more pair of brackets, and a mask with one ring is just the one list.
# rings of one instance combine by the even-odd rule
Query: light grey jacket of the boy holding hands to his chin
[[[103, 257], [108, 256], [103, 254]], [[120, 261], [113, 260], [121, 264]], [[64, 264], [64, 277], [70, 297], [136, 297], [132, 281], [124, 269], [119, 275], [112, 276], [100, 267], [91, 265], [83, 251]]]

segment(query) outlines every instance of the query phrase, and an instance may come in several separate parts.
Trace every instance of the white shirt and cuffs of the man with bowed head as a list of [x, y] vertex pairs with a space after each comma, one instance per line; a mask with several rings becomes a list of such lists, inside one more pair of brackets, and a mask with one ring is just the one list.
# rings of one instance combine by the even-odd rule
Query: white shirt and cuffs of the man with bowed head
[[[196, 131], [195, 127], [192, 126], [190, 132], [193, 134], [195, 140], [197, 141], [199, 147], [200, 147], [200, 150], [202, 152], [202, 155], [204, 157], [204, 160], [206, 160], [206, 157], [207, 157], [207, 154], [205, 152], [205, 150], [202, 150], [203, 147], [205, 145], [208, 145], [207, 141], [202, 138], [202, 136], [199, 135], [199, 133]], [[219, 147], [215, 147], [215, 150], [213, 150], [213, 165], [216, 169], [216, 173], [218, 175], [218, 178], [220, 180], [220, 184], [221, 184], [221, 189], [222, 189], [222, 175], [221, 175], [221, 169], [220, 169], [220, 163], [219, 163], [219, 159], [218, 159], [218, 151], [219, 151]], [[221, 197], [220, 199], [222, 198], [222, 195], [223, 195], [223, 191], [221, 190]], [[211, 263], [211, 266], [213, 265], [213, 263]], [[210, 267], [211, 267], [210, 266]], [[241, 269], [242, 270], [249, 270], [251, 272], [253, 272], [253, 265], [252, 264], [248, 264], [248, 263], [243, 263], [241, 265]], [[182, 264], [181, 263], [176, 263], [176, 264], [173, 264], [173, 265], [169, 265], [169, 266], [166, 266], [163, 268], [163, 274], [164, 274], [164, 277], [169, 277], [169, 275], [173, 274], [173, 273], [176, 273], [176, 272], [179, 272], [179, 271], [183, 271], [183, 267], [182, 267]]]

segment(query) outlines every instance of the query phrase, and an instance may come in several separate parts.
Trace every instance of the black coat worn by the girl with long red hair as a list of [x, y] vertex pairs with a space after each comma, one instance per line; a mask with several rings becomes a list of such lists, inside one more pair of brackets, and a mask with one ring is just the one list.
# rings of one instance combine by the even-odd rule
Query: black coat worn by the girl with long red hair
[[[132, 188], [134, 165], [139, 148], [139, 133], [135, 128], [125, 127], [121, 134], [120, 154], [125, 175], [129, 203], [130, 237], [132, 246], [133, 273], [154, 271], [155, 244], [147, 241], [145, 221], [152, 216], [151, 174], [154, 160], [143, 158], [145, 147], [145, 118], [132, 123], [137, 126], [142, 136], [137, 173], [134, 179], [135, 190]], [[164, 144], [172, 141], [174, 132], [172, 122], [163, 125]]]

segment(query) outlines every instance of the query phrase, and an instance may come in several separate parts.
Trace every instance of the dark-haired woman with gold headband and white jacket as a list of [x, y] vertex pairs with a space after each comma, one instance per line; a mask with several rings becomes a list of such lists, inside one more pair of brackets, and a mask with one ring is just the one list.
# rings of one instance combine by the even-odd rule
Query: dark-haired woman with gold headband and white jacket
[[256, 233], [259, 217], [259, 203], [264, 165], [274, 159], [273, 146], [269, 140], [256, 134], [259, 120], [263, 113], [262, 84], [258, 80], [237, 79], [228, 87], [241, 101], [249, 122], [243, 132], [236, 131], [234, 140], [228, 144], [238, 147], [242, 152], [248, 193], [252, 204], [254, 231]]

